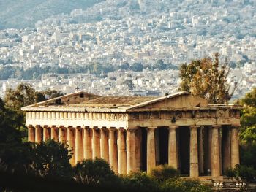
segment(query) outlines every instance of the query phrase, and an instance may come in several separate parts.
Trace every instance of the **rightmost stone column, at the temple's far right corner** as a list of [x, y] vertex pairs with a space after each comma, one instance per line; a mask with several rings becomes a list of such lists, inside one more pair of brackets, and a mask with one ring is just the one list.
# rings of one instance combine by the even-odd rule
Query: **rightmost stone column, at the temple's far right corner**
[[231, 167], [234, 168], [239, 164], [239, 142], [238, 142], [238, 127], [231, 127]]

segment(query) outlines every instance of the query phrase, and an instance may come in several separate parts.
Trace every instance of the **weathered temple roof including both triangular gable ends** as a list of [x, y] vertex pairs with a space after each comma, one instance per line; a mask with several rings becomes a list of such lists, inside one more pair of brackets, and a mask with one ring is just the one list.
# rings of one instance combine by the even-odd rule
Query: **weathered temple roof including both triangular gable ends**
[[23, 107], [23, 111], [132, 112], [227, 107], [208, 105], [206, 99], [181, 91], [167, 96], [98, 96], [77, 92]]

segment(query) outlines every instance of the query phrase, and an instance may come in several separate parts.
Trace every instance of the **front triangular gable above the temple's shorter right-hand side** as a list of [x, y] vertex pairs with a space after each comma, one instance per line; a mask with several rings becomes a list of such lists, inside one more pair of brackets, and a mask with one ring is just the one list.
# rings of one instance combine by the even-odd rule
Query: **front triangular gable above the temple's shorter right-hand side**
[[129, 107], [129, 110], [207, 107], [207, 104], [206, 99], [199, 96], [192, 96], [187, 92], [178, 92]]

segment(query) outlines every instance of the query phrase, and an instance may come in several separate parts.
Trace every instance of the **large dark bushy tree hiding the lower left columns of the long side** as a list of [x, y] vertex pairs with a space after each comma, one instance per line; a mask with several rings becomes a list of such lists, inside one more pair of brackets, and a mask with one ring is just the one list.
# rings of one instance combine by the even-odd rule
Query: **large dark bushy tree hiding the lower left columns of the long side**
[[31, 154], [31, 172], [41, 177], [71, 178], [72, 167], [69, 164], [71, 151], [67, 145], [48, 140], [35, 144]]

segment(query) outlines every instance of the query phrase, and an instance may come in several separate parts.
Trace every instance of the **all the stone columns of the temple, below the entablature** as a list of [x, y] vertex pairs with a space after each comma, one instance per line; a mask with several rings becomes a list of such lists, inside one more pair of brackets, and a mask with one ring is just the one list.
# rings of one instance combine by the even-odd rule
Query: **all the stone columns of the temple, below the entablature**
[[[150, 172], [156, 166], [156, 134], [157, 126], [147, 127], [146, 137], [146, 169]], [[179, 126], [168, 128], [168, 164], [179, 168], [178, 137]], [[220, 129], [222, 128], [222, 139]], [[218, 177], [223, 168], [239, 164], [238, 127], [208, 126], [207, 137], [203, 135], [202, 126], [189, 126], [189, 176], [198, 177], [203, 172], [207, 162], [211, 176]], [[29, 126], [29, 141], [41, 142], [53, 139], [67, 143], [73, 149], [70, 160], [72, 165], [89, 158], [103, 158], [108, 161], [113, 171], [127, 174], [138, 171], [138, 147], [136, 131], [138, 128], [115, 127], [81, 127], [81, 126]], [[208, 155], [203, 155], [203, 138], [207, 141]], [[180, 141], [182, 142], [182, 140]], [[221, 147], [223, 146], [223, 147]], [[223, 155], [223, 158], [222, 158]], [[208, 158], [208, 161], [204, 161]], [[223, 160], [223, 161], [222, 161]]]

